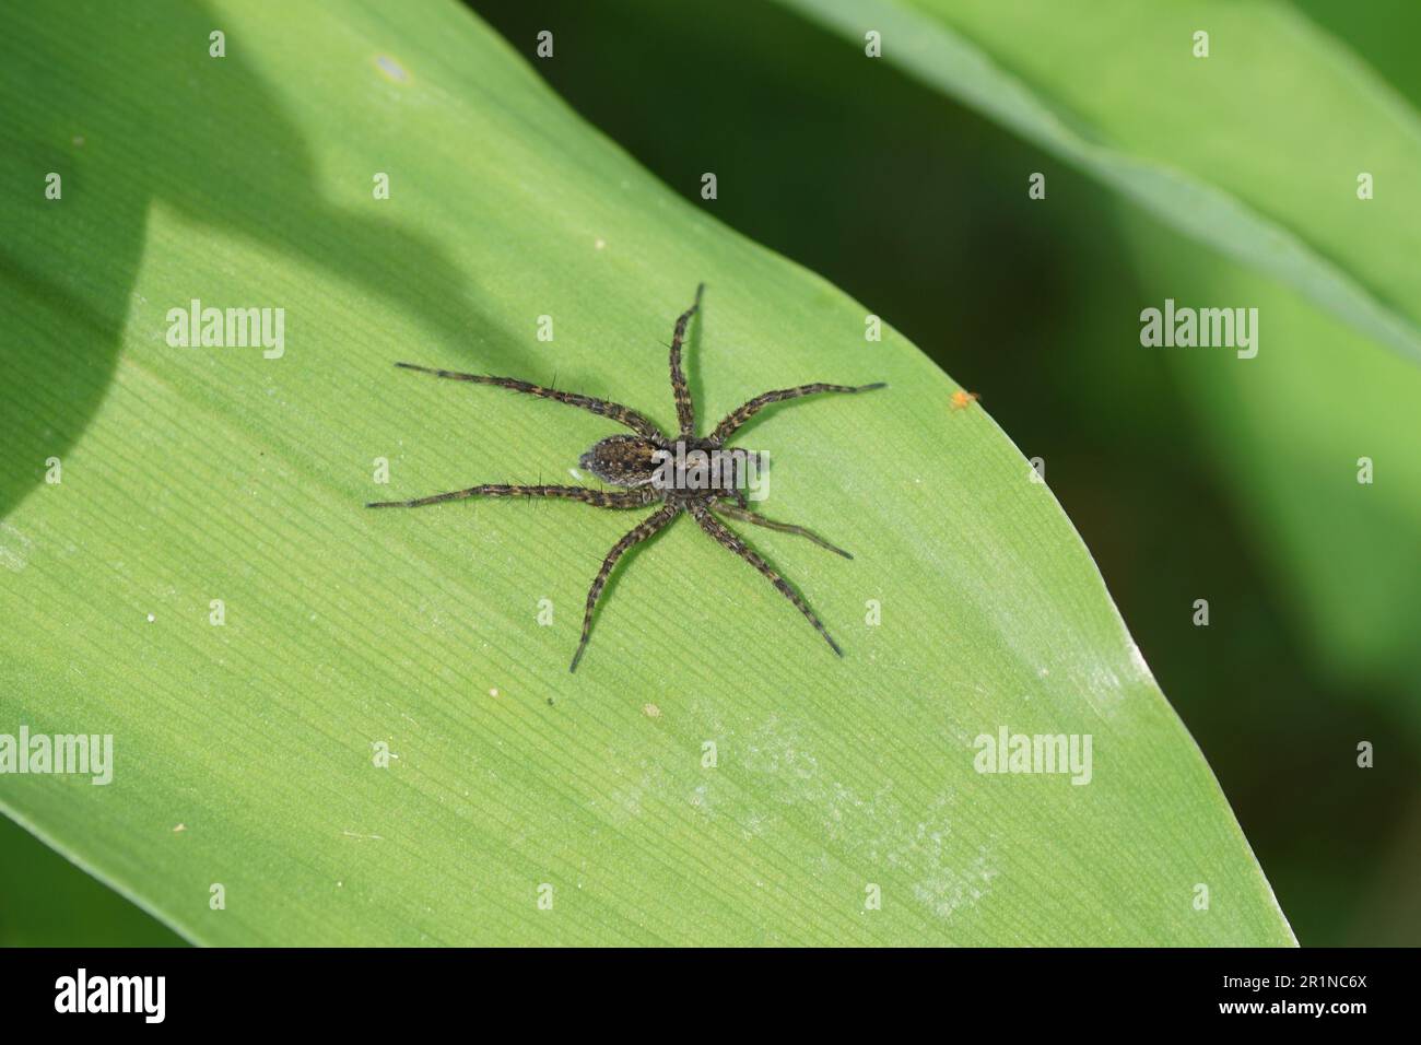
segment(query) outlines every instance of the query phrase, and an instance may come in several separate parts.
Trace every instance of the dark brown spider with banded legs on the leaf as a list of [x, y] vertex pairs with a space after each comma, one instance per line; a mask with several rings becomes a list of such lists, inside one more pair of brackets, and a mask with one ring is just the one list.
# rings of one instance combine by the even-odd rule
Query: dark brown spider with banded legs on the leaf
[[[710, 435], [698, 438], [695, 432], [695, 407], [691, 402], [691, 390], [686, 387], [686, 375], [681, 368], [681, 344], [685, 340], [691, 317], [701, 309], [701, 294], [703, 290], [703, 283], [696, 287], [695, 301], [676, 320], [675, 333], [672, 334], [669, 345], [671, 391], [676, 401], [676, 419], [681, 425], [681, 431], [675, 439], [668, 438], [644, 415], [630, 407], [621, 405], [620, 402], [594, 400], [590, 395], [577, 395], [574, 392], [561, 392], [556, 388], [544, 388], [541, 385], [536, 385], [529, 381], [519, 381], [512, 377], [458, 374], [449, 370], [421, 367], [414, 363], [395, 364], [396, 367], [402, 367], [405, 370], [415, 370], [422, 374], [432, 374], [452, 381], [473, 381], [475, 384], [482, 385], [497, 385], [499, 388], [509, 388], [514, 392], [524, 392], [543, 400], [554, 400], [556, 402], [566, 402], [571, 407], [581, 407], [583, 409], [591, 411], [598, 417], [617, 421], [635, 432], [635, 435], [610, 435], [594, 444], [593, 448], [583, 454], [580, 459], [583, 468], [590, 471], [598, 479], [620, 489], [604, 491], [590, 489], [585, 486], [509, 486], [503, 483], [485, 483], [482, 486], [470, 486], [463, 491], [449, 491], [448, 493], [435, 493], [428, 498], [415, 498], [414, 500], [377, 500], [367, 505], [367, 508], [422, 508], [423, 505], [438, 505], [445, 500], [463, 500], [466, 498], [514, 496], [560, 498], [564, 500], [581, 500], [593, 508], [611, 509], [635, 509], [659, 505], [652, 515], [642, 519], [621, 540], [612, 545], [611, 552], [608, 552], [607, 557], [603, 559], [603, 566], [597, 572], [597, 577], [593, 580], [593, 587], [587, 593], [587, 607], [583, 613], [583, 634], [577, 643], [577, 651], [573, 654], [573, 663], [568, 667], [568, 671], [577, 671], [577, 664], [583, 658], [583, 651], [587, 648], [587, 640], [593, 628], [593, 610], [597, 607], [597, 600], [601, 596], [603, 587], [607, 584], [607, 579], [611, 576], [612, 569], [617, 566], [617, 560], [634, 546], [665, 529], [682, 512], [689, 513], [701, 529], [713, 537], [719, 545], [740, 556], [750, 563], [750, 566], [764, 574], [764, 577], [774, 584], [776, 589], [779, 589], [780, 594], [789, 599], [796, 609], [804, 614], [809, 623], [814, 626], [814, 630], [824, 637], [824, 641], [828, 643], [830, 648], [840, 657], [844, 655], [843, 650], [838, 648], [838, 643], [836, 643], [830, 637], [828, 631], [824, 630], [824, 626], [820, 623], [818, 617], [814, 616], [814, 611], [809, 607], [804, 599], [800, 597], [800, 594], [790, 587], [790, 584], [779, 573], [776, 573], [774, 569], [755, 552], [755, 549], [746, 545], [716, 516], [722, 515], [729, 519], [764, 526], [782, 533], [797, 533], [801, 537], [813, 540], [820, 547], [828, 549], [830, 552], [841, 554], [845, 559], [853, 559], [853, 556], [844, 549], [830, 545], [827, 540], [816, 533], [811, 533], [803, 526], [776, 522], [759, 515], [757, 512], [752, 512], [746, 505], [746, 496], [742, 489], [743, 475], [739, 468], [702, 468], [698, 471], [696, 468], [686, 469], [681, 462], [688, 456], [695, 461], [695, 451], [705, 452], [708, 458], [713, 454], [745, 454], [745, 451], [725, 451], [726, 439], [733, 436], [740, 425], [773, 402], [797, 400], [801, 395], [814, 395], [817, 392], [867, 392], [874, 388], [884, 388], [885, 382], [880, 381], [877, 384], [857, 387], [809, 384], [799, 385], [797, 388], [780, 388], [770, 392], [762, 392], [749, 402], [743, 404], [739, 409], [726, 415], [726, 418], [715, 427]], [[672, 458], [676, 461], [676, 468], [674, 471], [666, 468]], [[726, 472], [730, 473], [726, 475]]]

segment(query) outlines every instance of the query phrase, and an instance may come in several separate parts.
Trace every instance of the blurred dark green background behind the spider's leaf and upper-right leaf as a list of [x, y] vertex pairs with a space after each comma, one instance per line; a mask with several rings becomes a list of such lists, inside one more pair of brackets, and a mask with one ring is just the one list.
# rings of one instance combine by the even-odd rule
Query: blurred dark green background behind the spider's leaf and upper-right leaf
[[[1415, 365], [773, 3], [469, 6], [530, 60], [551, 30], [534, 65], [588, 121], [689, 199], [713, 171], [702, 206], [864, 301], [1046, 461], [1304, 945], [1421, 941]], [[1295, 6], [1421, 105], [1421, 6]], [[1141, 348], [1165, 297], [1259, 307], [1259, 360]], [[1350, 479], [1364, 452], [1391, 485], [1334, 510], [1313, 462]], [[0, 852], [0, 943], [173, 941], [3, 820]]]

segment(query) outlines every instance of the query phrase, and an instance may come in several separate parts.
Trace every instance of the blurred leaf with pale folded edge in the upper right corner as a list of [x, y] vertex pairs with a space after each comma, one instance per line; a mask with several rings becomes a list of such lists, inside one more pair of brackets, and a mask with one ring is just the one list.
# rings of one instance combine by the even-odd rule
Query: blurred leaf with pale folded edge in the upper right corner
[[1421, 361], [1421, 122], [1289, 4], [780, 3]]

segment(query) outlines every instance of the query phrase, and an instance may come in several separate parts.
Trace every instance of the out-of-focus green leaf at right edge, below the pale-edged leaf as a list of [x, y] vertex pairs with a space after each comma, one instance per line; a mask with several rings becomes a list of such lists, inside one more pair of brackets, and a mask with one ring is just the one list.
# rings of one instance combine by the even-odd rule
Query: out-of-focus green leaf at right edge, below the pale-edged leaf
[[1252, 360], [1160, 357], [1310, 638], [1313, 670], [1394, 682], [1397, 709], [1421, 727], [1421, 371], [1276, 280], [1123, 218], [1147, 294], [1259, 310], [1266, 343]]

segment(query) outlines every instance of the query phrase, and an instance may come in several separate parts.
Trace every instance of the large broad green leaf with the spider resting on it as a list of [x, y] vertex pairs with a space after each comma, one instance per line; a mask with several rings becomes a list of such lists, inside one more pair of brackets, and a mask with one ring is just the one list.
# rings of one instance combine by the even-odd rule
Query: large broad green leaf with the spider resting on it
[[[0, 34], [0, 732], [114, 736], [107, 786], [0, 776], [11, 818], [212, 944], [1292, 943], [1049, 488], [912, 345], [455, 4], [142, 11]], [[746, 535], [845, 657], [681, 520], [570, 675], [641, 513], [361, 505], [571, 482], [615, 427], [391, 364], [556, 374], [666, 427], [701, 280], [702, 424], [890, 382], [742, 442], [766, 513], [855, 553]], [[286, 309], [284, 354], [171, 347], [192, 299]], [[1088, 783], [978, 772], [1002, 729], [1088, 735]]]

